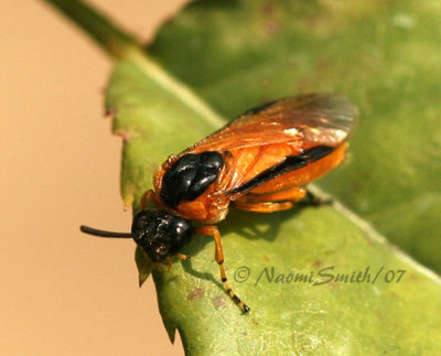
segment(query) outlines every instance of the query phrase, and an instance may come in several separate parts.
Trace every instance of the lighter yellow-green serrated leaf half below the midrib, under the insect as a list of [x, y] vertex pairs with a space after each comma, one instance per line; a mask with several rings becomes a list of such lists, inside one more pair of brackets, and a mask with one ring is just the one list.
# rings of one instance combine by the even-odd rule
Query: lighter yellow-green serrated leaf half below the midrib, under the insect
[[[216, 128], [154, 77], [127, 61], [107, 93], [114, 128], [125, 137], [122, 195], [135, 206], [169, 153]], [[171, 339], [179, 330], [189, 355], [411, 355], [441, 347], [439, 278], [340, 204], [268, 215], [232, 209], [219, 229], [227, 274], [249, 314], [225, 293], [209, 237], [193, 238], [183, 251], [190, 261], [153, 271], [164, 325]], [[142, 273], [151, 263], [138, 256]], [[298, 273], [309, 281], [295, 281]], [[337, 273], [348, 282], [336, 281]]]

